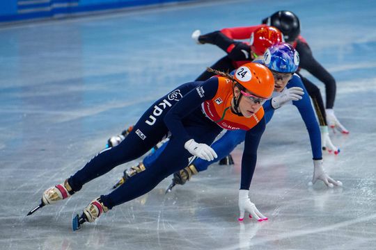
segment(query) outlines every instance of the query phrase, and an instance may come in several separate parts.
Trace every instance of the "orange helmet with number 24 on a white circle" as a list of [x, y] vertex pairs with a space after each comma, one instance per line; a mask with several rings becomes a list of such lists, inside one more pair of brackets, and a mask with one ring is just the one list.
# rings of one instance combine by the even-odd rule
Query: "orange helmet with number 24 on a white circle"
[[234, 74], [235, 81], [240, 88], [244, 88], [258, 97], [269, 98], [274, 90], [272, 72], [260, 63], [246, 63], [237, 68]]

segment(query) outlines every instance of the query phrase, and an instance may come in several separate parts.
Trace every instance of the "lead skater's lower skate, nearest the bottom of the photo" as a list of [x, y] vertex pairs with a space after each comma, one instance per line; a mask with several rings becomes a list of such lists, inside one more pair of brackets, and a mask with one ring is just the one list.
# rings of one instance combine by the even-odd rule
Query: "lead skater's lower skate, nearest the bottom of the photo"
[[107, 213], [109, 208], [103, 205], [102, 200], [100, 197], [91, 201], [86, 208], [84, 208], [83, 213], [81, 216], [78, 214], [72, 219], [72, 228], [73, 231], [77, 231], [81, 228], [81, 225], [85, 222], [95, 222], [95, 219], [100, 217], [102, 213]]

